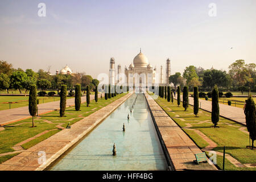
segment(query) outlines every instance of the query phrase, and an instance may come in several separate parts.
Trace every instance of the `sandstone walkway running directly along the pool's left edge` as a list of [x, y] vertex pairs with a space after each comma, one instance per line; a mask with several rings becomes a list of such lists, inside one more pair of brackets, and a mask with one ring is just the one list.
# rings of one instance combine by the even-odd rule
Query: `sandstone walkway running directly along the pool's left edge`
[[[94, 129], [101, 121], [111, 114], [119, 105], [133, 94], [130, 92], [102, 109], [74, 123], [71, 129], [64, 129], [43, 140], [28, 150], [21, 152], [0, 164], [0, 171], [34, 171], [43, 170], [59, 158], [68, 148]], [[42, 152], [42, 153], [40, 153]], [[45, 153], [44, 153], [45, 152]], [[45, 163], [40, 163], [40, 156], [46, 154]]]

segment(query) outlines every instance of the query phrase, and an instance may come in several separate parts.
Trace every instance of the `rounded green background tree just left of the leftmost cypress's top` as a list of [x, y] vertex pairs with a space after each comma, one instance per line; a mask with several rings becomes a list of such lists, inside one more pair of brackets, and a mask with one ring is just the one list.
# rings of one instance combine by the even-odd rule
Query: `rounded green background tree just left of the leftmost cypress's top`
[[23, 88], [24, 81], [27, 80], [27, 74], [21, 71], [15, 71], [11, 75], [10, 82], [11, 88], [18, 89], [21, 94], [21, 89]]

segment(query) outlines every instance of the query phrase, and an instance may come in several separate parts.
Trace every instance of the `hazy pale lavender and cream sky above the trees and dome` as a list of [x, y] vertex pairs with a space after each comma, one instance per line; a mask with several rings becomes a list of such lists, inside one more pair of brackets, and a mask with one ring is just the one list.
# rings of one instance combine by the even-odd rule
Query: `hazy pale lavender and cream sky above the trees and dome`
[[[40, 2], [46, 17], [38, 16]], [[158, 72], [170, 57], [172, 74], [256, 63], [256, 1], [0, 1], [0, 60], [14, 68], [51, 65], [55, 73], [68, 64], [97, 77], [108, 73], [110, 57], [123, 72], [139, 48]]]

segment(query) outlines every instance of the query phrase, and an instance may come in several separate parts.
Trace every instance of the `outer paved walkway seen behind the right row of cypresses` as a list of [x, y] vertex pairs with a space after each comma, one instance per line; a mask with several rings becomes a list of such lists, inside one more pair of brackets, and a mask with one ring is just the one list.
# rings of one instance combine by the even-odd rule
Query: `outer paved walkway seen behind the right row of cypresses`
[[[181, 97], [180, 100], [182, 101], [182, 95], [180, 97]], [[176, 98], [177, 98], [177, 94], [176, 94]], [[189, 104], [193, 106], [193, 103], [194, 103], [193, 97], [188, 97], [188, 98], [189, 98]], [[238, 123], [241, 123], [242, 125], [246, 125], [245, 114], [243, 113], [242, 108], [224, 105], [224, 104], [221, 104], [220, 102], [219, 102], [219, 106], [220, 106], [220, 116], [231, 119]], [[199, 107], [201, 109], [211, 112], [212, 102], [199, 99]]]

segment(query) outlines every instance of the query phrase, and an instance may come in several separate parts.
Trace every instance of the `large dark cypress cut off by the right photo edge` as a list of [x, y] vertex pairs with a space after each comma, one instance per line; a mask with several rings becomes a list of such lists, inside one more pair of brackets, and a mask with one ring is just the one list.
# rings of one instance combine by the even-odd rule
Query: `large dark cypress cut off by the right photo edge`
[[256, 122], [255, 122], [255, 103], [253, 101], [253, 98], [251, 98], [251, 94], [249, 93], [249, 97], [245, 101], [245, 121], [246, 121], [246, 127], [249, 132], [249, 136], [251, 138], [251, 146], [252, 149], [254, 148], [254, 140], [256, 139]]

